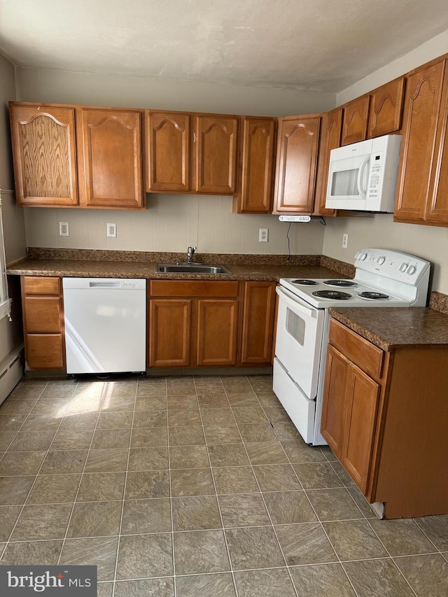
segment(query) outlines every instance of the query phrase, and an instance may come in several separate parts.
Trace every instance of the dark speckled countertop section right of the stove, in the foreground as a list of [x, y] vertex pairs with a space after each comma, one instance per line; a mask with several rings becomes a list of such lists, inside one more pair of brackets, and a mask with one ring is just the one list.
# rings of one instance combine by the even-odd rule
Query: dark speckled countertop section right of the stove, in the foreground
[[330, 309], [347, 328], [388, 351], [400, 346], [447, 346], [448, 314], [426, 307]]

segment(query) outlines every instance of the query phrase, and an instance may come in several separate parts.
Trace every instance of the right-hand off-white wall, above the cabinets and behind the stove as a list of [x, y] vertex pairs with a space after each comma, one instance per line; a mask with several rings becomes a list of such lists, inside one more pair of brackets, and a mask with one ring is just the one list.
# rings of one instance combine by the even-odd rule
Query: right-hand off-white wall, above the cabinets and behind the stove
[[[448, 31], [424, 43], [416, 50], [391, 62], [372, 75], [337, 95], [337, 105], [344, 104], [388, 80], [398, 77], [448, 52]], [[323, 254], [346, 262], [353, 261], [361, 248], [378, 246], [414, 253], [433, 263], [432, 290], [448, 294], [448, 228], [400, 224], [393, 216], [373, 218], [327, 218]], [[342, 248], [342, 234], [349, 234], [349, 245]]]

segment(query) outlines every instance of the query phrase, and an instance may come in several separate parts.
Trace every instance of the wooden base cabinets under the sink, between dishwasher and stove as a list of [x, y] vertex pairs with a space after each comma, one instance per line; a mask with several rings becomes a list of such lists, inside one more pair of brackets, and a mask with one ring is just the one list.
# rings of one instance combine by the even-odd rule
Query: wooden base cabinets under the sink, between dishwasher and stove
[[271, 365], [275, 286], [151, 280], [148, 367]]

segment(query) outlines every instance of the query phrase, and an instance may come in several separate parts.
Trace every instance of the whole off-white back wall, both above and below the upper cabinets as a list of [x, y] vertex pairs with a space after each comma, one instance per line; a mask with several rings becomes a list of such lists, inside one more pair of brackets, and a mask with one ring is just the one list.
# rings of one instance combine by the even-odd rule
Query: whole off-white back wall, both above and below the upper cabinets
[[[161, 81], [136, 77], [16, 69], [18, 99], [62, 104], [92, 104], [253, 115], [291, 115], [326, 111], [335, 94]], [[288, 253], [288, 225], [276, 216], [232, 213], [231, 197], [148, 195], [146, 211], [25, 209], [28, 246], [99, 248], [127, 251], [202, 253]], [[59, 237], [59, 221], [70, 236]], [[106, 238], [106, 223], [118, 224], [116, 239]], [[259, 228], [269, 242], [258, 242]], [[322, 252], [319, 222], [293, 224], [292, 253]]]

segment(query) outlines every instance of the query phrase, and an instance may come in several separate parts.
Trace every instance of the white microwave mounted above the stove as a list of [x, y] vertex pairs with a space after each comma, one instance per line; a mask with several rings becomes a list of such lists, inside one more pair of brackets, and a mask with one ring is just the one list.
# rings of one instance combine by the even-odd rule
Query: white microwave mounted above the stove
[[325, 207], [393, 213], [401, 135], [384, 135], [330, 151]]

